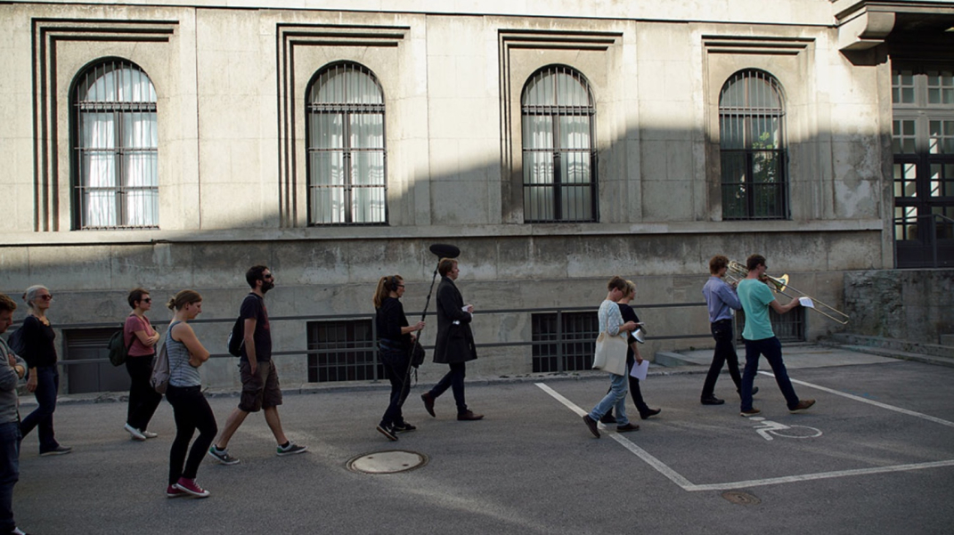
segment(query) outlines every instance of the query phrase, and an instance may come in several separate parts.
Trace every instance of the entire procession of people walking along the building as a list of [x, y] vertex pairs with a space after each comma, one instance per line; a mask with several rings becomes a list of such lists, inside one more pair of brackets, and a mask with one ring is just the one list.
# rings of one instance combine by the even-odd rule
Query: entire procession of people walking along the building
[[[725, 402], [716, 398], [715, 386], [723, 365], [727, 364], [741, 399], [740, 414], [745, 417], [757, 415], [759, 409], [753, 406], [753, 396], [758, 388], [753, 386], [753, 381], [758, 359], [764, 355], [772, 366], [788, 409], [800, 412], [811, 407], [815, 401], [799, 400], [792, 387], [781, 357], [781, 344], [775, 337], [768, 316], [770, 308], [778, 314], [794, 309], [799, 305], [798, 299], [784, 305], [778, 303], [768, 285], [763, 283], [766, 265], [765, 257], [760, 255], [747, 259], [748, 276], [737, 283], [737, 288], [736, 284], [725, 280], [727, 257], [713, 257], [709, 267], [711, 278], [702, 293], [708, 304], [716, 350], [703, 384], [700, 402], [704, 405]], [[484, 416], [474, 413], [467, 406], [464, 386], [467, 361], [477, 358], [470, 329], [474, 307], [464, 302], [455, 284], [460, 275], [457, 259], [442, 258], [438, 263], [438, 272], [441, 282], [436, 298], [437, 336], [433, 361], [447, 364], [448, 371], [437, 384], [421, 395], [421, 400], [427, 414], [436, 417], [436, 401], [449, 389], [456, 405], [457, 420], [481, 420]], [[196, 483], [198, 466], [206, 455], [223, 464], [239, 463], [229, 453], [228, 445], [250, 413], [264, 413], [265, 422], [277, 443], [277, 455], [294, 455], [306, 450], [305, 446], [291, 442], [285, 436], [278, 412], [281, 390], [278, 372], [271, 359], [271, 326], [264, 299], [265, 294], [275, 287], [275, 278], [269, 268], [262, 265], [250, 268], [245, 278], [251, 292], [239, 309], [243, 334], [239, 358], [241, 396], [239, 405], [228, 416], [220, 433], [215, 414], [202, 394], [198, 371], [209, 359], [210, 353], [189, 324], [202, 312], [201, 295], [194, 290], [182, 290], [168, 301], [167, 307], [173, 311], [173, 319], [163, 338], [146, 316], [153, 302], [149, 292], [136, 288], [129, 293], [128, 302], [132, 312], [124, 323], [123, 335], [127, 347], [125, 365], [131, 386], [124, 429], [135, 441], [146, 441], [157, 436], [148, 426], [162, 400], [162, 395], [156, 392], [151, 381], [156, 349], [161, 347], [162, 356], [168, 358], [170, 371], [165, 395], [173, 406], [176, 422], [176, 438], [170, 449], [166, 487], [166, 495], [170, 498], [209, 496], [209, 491]], [[419, 346], [417, 336], [425, 328], [425, 321], [422, 318], [411, 324], [407, 320], [401, 303], [403, 296], [404, 278], [392, 275], [380, 278], [373, 298], [379, 355], [391, 384], [387, 408], [377, 425], [377, 431], [390, 441], [398, 441], [399, 433], [417, 428], [404, 420], [403, 405], [410, 389], [415, 346]], [[639, 429], [627, 417], [627, 393], [631, 394], [641, 419], [646, 420], [660, 413], [660, 409], [650, 408], [643, 401], [639, 380], [630, 373], [634, 365], [643, 361], [638, 340], [634, 336], [642, 323], [629, 305], [634, 296], [635, 285], [632, 281], [613, 277], [607, 284], [607, 297], [599, 307], [601, 329], [609, 336], [626, 340], [627, 366], [625, 376], [611, 373], [611, 385], [606, 396], [583, 417], [596, 438], [600, 437], [599, 422], [615, 424], [617, 432]], [[59, 374], [53, 343], [55, 333], [47, 318], [52, 294], [46, 287], [36, 285], [28, 288], [23, 298], [29, 307], [29, 314], [18, 329], [15, 340], [10, 340], [8, 345], [0, 339], [0, 535], [23, 533], [16, 527], [12, 513], [12, 488], [19, 475], [22, 438], [36, 428], [41, 456], [63, 455], [72, 451], [69, 446], [56, 441], [53, 431]], [[10, 327], [15, 310], [16, 303], [0, 294], [0, 334]], [[742, 374], [739, 374], [733, 340], [733, 311], [736, 310], [743, 310], [746, 319], [742, 332], [746, 348]], [[417, 350], [421, 351], [419, 347]], [[16, 387], [23, 378], [27, 378], [27, 389], [36, 397], [37, 407], [21, 422]], [[198, 437], [193, 441], [196, 431]]]

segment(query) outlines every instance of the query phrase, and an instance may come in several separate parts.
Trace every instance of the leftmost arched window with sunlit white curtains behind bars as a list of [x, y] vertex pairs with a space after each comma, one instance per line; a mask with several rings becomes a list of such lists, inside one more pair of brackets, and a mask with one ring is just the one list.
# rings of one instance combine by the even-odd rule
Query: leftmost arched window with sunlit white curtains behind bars
[[104, 61], [73, 83], [73, 226], [156, 228], [156, 88], [133, 63]]

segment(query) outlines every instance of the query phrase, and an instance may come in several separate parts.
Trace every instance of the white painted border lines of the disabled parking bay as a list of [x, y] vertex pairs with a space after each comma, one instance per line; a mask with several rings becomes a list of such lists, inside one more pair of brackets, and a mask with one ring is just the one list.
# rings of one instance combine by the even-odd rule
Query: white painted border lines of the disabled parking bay
[[[768, 374], [768, 373], [765, 373], [765, 372], [758, 372], [758, 373], [762, 373], [762, 374], [765, 374], [765, 375], [772, 376], [772, 374]], [[773, 376], [773, 377], [774, 377], [774, 376]], [[809, 386], [809, 387], [812, 387], [812, 388], [818, 388], [819, 390], [823, 390], [823, 391], [825, 391], [825, 392], [830, 392], [830, 393], [832, 393], [832, 394], [836, 394], [836, 395], [839, 395], [839, 396], [842, 396], [842, 397], [845, 397], [845, 398], [848, 398], [848, 399], [851, 399], [851, 400], [856, 400], [856, 401], [862, 401], [862, 402], [870, 403], [870, 404], [873, 404], [873, 405], [875, 405], [875, 406], [878, 406], [878, 407], [881, 407], [881, 408], [885, 408], [885, 409], [888, 409], [888, 410], [893, 410], [893, 411], [896, 411], [896, 412], [900, 412], [900, 413], [902, 413], [902, 414], [906, 414], [906, 415], [909, 415], [909, 416], [915, 416], [915, 417], [918, 417], [918, 418], [923, 418], [924, 420], [927, 420], [927, 421], [929, 421], [929, 422], [942, 423], [942, 424], [944, 424], [944, 425], [949, 425], [949, 426], [951, 426], [951, 427], [954, 427], [954, 422], [947, 422], [947, 421], [941, 420], [941, 419], [939, 419], [939, 418], [934, 418], [934, 417], [927, 416], [927, 415], [924, 415], [924, 414], [921, 414], [921, 413], [918, 413], [918, 412], [909, 411], [909, 410], [907, 410], [907, 409], [902, 409], [902, 408], [900, 408], [900, 407], [895, 407], [895, 406], [892, 406], [892, 405], [888, 405], [888, 404], [886, 404], [886, 403], [881, 403], [880, 401], [866, 400], [866, 399], [864, 399], [864, 398], [859, 398], [858, 396], [854, 396], [854, 395], [852, 395], [852, 394], [845, 394], [845, 393], [839, 392], [839, 391], [837, 391], [837, 390], [831, 390], [831, 389], [829, 389], [829, 388], [825, 388], [825, 387], [823, 387], [823, 386], [811, 384], [811, 383], [804, 382], [804, 381], [795, 381], [795, 380], [792, 380], [792, 382], [798, 382], [798, 384], [801, 384], [801, 385], [804, 385], [804, 386]], [[550, 388], [550, 386], [548, 386], [548, 385], [546, 385], [546, 384], [544, 384], [544, 383], [542, 383], [542, 382], [536, 382], [536, 383], [534, 383], [534, 384], [536, 384], [541, 390], [543, 390], [544, 392], [546, 392], [547, 394], [549, 394], [550, 397], [552, 397], [554, 400], [563, 403], [563, 404], [564, 404], [567, 408], [569, 408], [572, 412], [574, 412], [574, 413], [576, 413], [577, 415], [579, 415], [580, 418], [582, 418], [584, 415], [588, 414], [587, 411], [583, 410], [582, 408], [580, 408], [578, 405], [576, 405], [576, 404], [573, 403], [572, 401], [570, 401], [570, 400], [568, 400], [567, 398], [565, 398], [565, 397], [563, 397], [562, 395], [560, 395], [558, 392], [556, 392], [555, 390], [553, 390], [552, 388]], [[599, 423], [598, 425], [599, 425], [600, 428], [602, 428], [603, 430], [607, 430], [607, 427], [606, 427], [605, 425], [603, 425], [602, 423]], [[814, 429], [814, 428], [813, 428], [813, 429]], [[819, 433], [820, 433], [820, 431], [819, 431]], [[674, 484], [677, 484], [677, 485], [679, 485], [683, 490], [687, 490], [687, 491], [690, 491], [690, 492], [697, 492], [697, 491], [700, 491], [700, 490], [732, 490], [732, 489], [736, 489], [736, 488], [749, 488], [749, 487], [753, 487], [753, 486], [765, 486], [765, 485], [770, 485], [770, 484], [788, 484], [788, 483], [797, 483], [797, 482], [805, 482], [805, 481], [815, 481], [815, 480], [824, 480], [824, 479], [833, 479], [833, 478], [843, 478], [843, 477], [849, 477], [849, 476], [864, 476], [864, 475], [870, 475], [870, 474], [884, 474], [884, 473], [891, 473], [891, 472], [906, 472], [906, 471], [912, 471], [912, 470], [924, 470], [924, 469], [929, 469], [929, 468], [941, 468], [941, 467], [944, 467], [944, 466], [954, 466], [954, 459], [951, 459], [951, 460], [945, 460], [945, 461], [932, 461], [932, 462], [927, 462], [927, 463], [908, 463], [908, 464], [895, 464], [895, 465], [893, 465], [893, 466], [873, 466], [873, 467], [870, 467], [870, 468], [855, 468], [855, 469], [851, 469], [851, 470], [835, 470], [835, 471], [831, 471], [831, 472], [818, 472], [818, 473], [814, 473], [814, 474], [800, 474], [800, 475], [796, 475], [796, 476], [784, 476], [784, 477], [779, 477], [779, 478], [766, 478], [766, 479], [760, 479], [760, 480], [745, 480], [745, 481], [740, 481], [740, 482], [726, 482], [726, 483], [716, 483], [716, 484], [694, 484], [693, 482], [691, 482], [691, 481], [689, 481], [687, 478], [685, 478], [682, 474], [679, 474], [679, 473], [676, 472], [673, 468], [669, 467], [669, 465], [667, 465], [666, 463], [663, 463], [662, 461], [659, 461], [658, 459], [656, 459], [655, 457], [653, 457], [653, 455], [650, 454], [648, 451], [646, 451], [645, 449], [643, 449], [643, 448], [637, 446], [636, 444], [634, 444], [633, 442], [631, 442], [629, 439], [623, 437], [621, 434], [619, 434], [619, 433], [610, 433], [608, 436], [609, 436], [612, 440], [614, 440], [614, 441], [619, 442], [620, 444], [622, 444], [623, 447], [625, 447], [626, 449], [628, 449], [628, 450], [630, 450], [631, 452], [633, 452], [633, 454], [634, 454], [636, 457], [638, 457], [638, 458], [641, 459], [643, 462], [645, 462], [645, 463], [649, 464], [650, 466], [652, 466], [653, 469], [655, 469], [657, 472], [659, 472], [660, 474], [662, 474], [663, 476], [665, 476], [667, 479], [669, 479], [670, 481], [672, 481]]]

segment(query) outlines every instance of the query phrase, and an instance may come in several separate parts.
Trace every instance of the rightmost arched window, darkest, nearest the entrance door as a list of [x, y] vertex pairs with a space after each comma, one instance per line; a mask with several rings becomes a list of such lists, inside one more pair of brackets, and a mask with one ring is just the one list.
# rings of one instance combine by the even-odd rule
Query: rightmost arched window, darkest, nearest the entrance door
[[788, 218], [785, 103], [778, 80], [733, 74], [718, 99], [723, 219]]

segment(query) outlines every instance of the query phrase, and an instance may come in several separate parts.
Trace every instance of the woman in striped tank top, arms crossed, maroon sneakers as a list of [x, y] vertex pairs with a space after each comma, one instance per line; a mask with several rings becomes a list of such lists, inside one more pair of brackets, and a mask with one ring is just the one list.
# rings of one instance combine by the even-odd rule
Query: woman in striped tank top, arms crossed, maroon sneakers
[[[176, 440], [169, 454], [169, 486], [166, 496], [205, 498], [209, 491], [198, 486], [196, 473], [205, 452], [216, 438], [218, 425], [209, 402], [202, 395], [198, 367], [209, 360], [209, 352], [198, 341], [189, 325], [190, 319], [202, 312], [202, 296], [193, 290], [182, 290], [167, 305], [174, 312], [166, 331], [166, 353], [169, 356], [169, 388], [166, 400], [173, 405], [176, 418]], [[198, 429], [198, 438], [189, 442]], [[188, 458], [186, 454], [188, 453]]]

